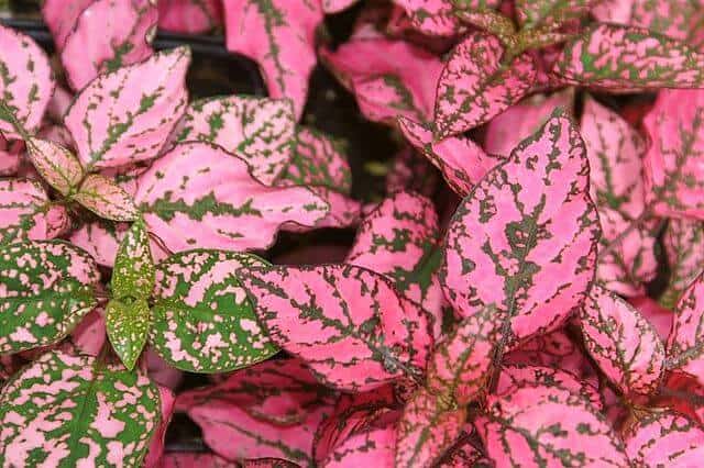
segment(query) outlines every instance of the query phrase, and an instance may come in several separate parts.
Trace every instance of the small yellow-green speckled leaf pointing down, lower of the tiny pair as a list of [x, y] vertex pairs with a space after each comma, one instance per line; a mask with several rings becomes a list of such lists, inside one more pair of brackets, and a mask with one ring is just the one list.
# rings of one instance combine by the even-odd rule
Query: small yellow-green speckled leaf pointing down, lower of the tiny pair
[[106, 309], [106, 328], [112, 348], [124, 366], [132, 370], [142, 354], [152, 325], [152, 312], [144, 299], [122, 302], [113, 299]]

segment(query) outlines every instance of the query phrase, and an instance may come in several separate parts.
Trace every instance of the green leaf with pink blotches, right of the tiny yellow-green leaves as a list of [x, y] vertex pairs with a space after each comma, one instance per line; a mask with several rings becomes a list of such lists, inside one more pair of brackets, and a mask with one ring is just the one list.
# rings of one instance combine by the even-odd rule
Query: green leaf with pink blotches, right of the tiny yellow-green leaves
[[277, 353], [240, 286], [242, 267], [263, 266], [255, 256], [190, 250], [156, 269], [150, 342], [170, 365], [196, 372], [224, 372]]

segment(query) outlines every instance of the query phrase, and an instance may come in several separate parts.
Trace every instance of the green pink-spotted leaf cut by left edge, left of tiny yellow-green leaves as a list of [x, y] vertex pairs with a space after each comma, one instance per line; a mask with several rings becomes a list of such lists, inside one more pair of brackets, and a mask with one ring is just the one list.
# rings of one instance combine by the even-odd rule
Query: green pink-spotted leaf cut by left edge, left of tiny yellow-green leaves
[[64, 338], [96, 305], [99, 281], [92, 258], [63, 241], [0, 247], [0, 354]]

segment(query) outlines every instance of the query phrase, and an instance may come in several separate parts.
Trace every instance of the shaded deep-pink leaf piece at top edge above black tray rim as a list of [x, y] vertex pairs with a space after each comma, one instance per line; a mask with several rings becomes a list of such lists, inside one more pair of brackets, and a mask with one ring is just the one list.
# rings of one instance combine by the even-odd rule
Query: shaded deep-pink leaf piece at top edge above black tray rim
[[158, 0], [158, 27], [176, 33], [198, 34], [222, 24], [220, 0]]

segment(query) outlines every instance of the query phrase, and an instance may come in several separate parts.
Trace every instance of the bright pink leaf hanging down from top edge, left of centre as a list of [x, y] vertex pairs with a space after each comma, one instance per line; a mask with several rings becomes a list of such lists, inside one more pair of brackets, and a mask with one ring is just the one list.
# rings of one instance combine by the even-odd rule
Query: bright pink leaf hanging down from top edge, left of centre
[[255, 60], [270, 97], [289, 98], [296, 119], [306, 103], [322, 18], [319, 1], [224, 0], [228, 51]]

